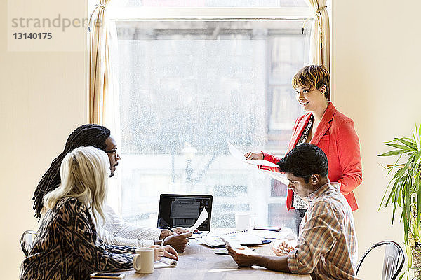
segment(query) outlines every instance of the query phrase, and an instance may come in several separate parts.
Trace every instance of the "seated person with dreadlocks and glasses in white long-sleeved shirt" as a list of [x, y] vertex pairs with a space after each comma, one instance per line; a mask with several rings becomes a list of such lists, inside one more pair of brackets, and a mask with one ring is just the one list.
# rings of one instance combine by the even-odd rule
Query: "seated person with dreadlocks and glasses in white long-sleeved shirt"
[[[66, 141], [65, 150], [53, 160], [50, 168], [42, 176], [34, 193], [35, 216], [41, 218], [44, 214], [44, 196], [51, 190], [55, 190], [60, 185], [60, 165], [65, 155], [74, 148], [83, 146], [93, 146], [105, 151], [109, 159], [109, 167], [113, 176], [116, 166], [120, 160], [117, 153], [116, 141], [110, 136], [110, 131], [101, 125], [88, 124], [77, 127], [69, 135]], [[156, 228], [144, 228], [122, 221], [114, 210], [105, 205], [105, 223], [98, 223], [98, 236], [105, 244], [119, 246], [145, 247], [154, 244], [161, 244], [160, 239], [164, 239], [165, 245], [171, 245], [179, 253], [184, 251], [187, 244], [187, 237], [191, 234], [183, 233], [183, 228], [174, 228], [175, 234], [170, 230]], [[101, 217], [99, 217], [101, 221]]]

